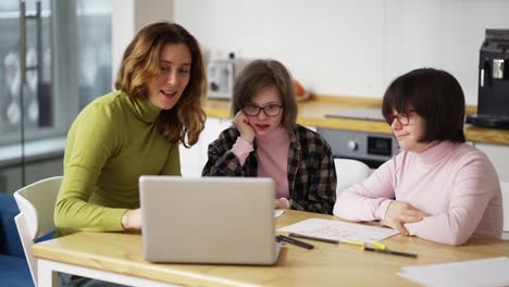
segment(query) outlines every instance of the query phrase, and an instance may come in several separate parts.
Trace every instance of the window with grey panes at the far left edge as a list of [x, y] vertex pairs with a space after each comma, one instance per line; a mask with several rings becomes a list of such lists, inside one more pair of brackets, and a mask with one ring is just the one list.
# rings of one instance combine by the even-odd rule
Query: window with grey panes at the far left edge
[[[0, 145], [18, 141], [22, 127], [33, 133], [53, 124], [51, 10], [49, 1], [39, 3], [37, 10], [35, 1], [27, 1], [24, 18], [18, 1], [0, 4]], [[25, 54], [24, 62], [21, 53]]]

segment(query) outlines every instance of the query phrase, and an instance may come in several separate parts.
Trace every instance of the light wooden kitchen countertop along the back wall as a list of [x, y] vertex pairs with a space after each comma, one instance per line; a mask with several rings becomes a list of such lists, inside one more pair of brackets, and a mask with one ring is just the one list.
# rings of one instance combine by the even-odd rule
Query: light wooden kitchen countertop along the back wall
[[[314, 96], [299, 102], [297, 122], [306, 126], [346, 129], [390, 135], [390, 127], [385, 122], [357, 118], [325, 117], [326, 114], [352, 108], [381, 108], [382, 100], [373, 98]], [[209, 117], [231, 118], [231, 101], [208, 99], [206, 112]], [[476, 107], [468, 105], [467, 113], [475, 113]], [[467, 140], [484, 144], [509, 146], [509, 129], [483, 128], [465, 124]]]

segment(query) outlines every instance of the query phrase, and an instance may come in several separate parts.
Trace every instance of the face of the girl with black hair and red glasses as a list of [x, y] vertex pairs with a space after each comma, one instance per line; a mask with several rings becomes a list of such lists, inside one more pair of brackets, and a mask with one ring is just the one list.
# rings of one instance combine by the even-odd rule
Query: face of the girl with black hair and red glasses
[[390, 128], [399, 142], [399, 147], [406, 151], [423, 152], [437, 142], [420, 142], [426, 135], [426, 121], [412, 109], [398, 113], [393, 110], [393, 123]]

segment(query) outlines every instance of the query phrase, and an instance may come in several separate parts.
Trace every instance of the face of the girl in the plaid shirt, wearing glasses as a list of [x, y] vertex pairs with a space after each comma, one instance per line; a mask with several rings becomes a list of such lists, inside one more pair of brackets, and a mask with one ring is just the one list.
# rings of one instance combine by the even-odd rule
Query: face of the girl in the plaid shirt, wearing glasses
[[284, 109], [281, 108], [281, 111], [277, 115], [266, 115], [263, 111], [265, 109], [278, 109], [274, 105], [282, 105], [280, 91], [276, 87], [266, 87], [260, 90], [250, 102], [246, 104], [253, 104], [259, 108], [260, 113], [258, 115], [247, 115], [249, 125], [254, 129], [257, 137], [266, 136], [277, 129], [281, 126], [281, 122], [284, 114]]

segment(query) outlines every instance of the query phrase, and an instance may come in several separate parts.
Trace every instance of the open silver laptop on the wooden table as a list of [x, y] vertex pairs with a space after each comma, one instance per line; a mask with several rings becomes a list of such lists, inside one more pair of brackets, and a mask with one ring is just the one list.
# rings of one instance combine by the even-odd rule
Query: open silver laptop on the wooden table
[[141, 176], [145, 260], [274, 264], [274, 192], [270, 178]]

